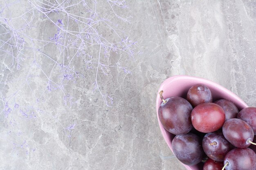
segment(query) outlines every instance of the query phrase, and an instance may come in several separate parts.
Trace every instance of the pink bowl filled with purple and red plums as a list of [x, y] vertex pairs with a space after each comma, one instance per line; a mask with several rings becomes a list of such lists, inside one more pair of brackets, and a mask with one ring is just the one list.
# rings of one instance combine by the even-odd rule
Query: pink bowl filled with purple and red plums
[[166, 79], [156, 100], [159, 127], [187, 170], [256, 170], [256, 107], [207, 79]]

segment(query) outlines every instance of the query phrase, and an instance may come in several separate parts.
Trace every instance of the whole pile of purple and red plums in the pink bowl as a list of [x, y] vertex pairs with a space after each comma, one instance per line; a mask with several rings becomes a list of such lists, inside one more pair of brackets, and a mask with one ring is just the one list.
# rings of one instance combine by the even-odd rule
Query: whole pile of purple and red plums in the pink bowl
[[182, 163], [204, 162], [203, 170], [256, 170], [256, 108], [238, 110], [227, 99], [213, 102], [210, 89], [192, 86], [187, 99], [170, 97], [159, 106], [164, 128], [176, 135], [173, 153]]

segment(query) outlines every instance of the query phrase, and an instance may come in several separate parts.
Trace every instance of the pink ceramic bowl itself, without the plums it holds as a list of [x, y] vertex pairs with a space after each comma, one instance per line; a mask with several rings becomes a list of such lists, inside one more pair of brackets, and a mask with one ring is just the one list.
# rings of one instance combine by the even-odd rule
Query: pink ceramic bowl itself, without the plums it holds
[[[186, 93], [189, 91], [189, 88], [195, 84], [205, 84], [206, 86], [208, 86], [211, 89], [211, 93], [213, 95], [213, 101], [217, 99], [228, 99], [234, 102], [234, 104], [236, 104], [239, 110], [248, 107], [247, 104], [245, 104], [245, 102], [243, 102], [243, 100], [240, 99], [238, 96], [236, 96], [234, 93], [220, 86], [219, 84], [216, 84], [207, 79], [202, 79], [202, 78], [192, 77], [187, 75], [176, 75], [166, 79], [161, 84], [157, 93], [156, 110], [157, 110], [157, 119], [158, 119], [159, 127], [164, 136], [164, 140], [166, 141], [171, 151], [173, 151], [171, 142], [174, 138], [174, 135], [172, 135], [167, 130], [165, 130], [165, 128], [162, 126], [161, 122], [159, 121], [158, 108], [159, 108], [159, 105], [162, 103], [162, 100], [159, 97], [159, 92], [161, 90], [164, 91], [163, 93], [164, 99], [168, 97], [175, 97], [175, 96], [180, 96], [186, 99]], [[184, 167], [187, 170], [201, 170], [200, 167], [197, 165], [196, 166], [184, 165]]]

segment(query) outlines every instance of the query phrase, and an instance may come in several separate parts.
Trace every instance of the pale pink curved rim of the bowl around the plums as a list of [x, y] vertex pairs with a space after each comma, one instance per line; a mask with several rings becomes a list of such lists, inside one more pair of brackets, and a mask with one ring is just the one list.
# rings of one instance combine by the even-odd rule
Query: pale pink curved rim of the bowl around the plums
[[[216, 86], [216, 88], [218, 88], [220, 91], [225, 92], [226, 94], [228, 94], [232, 98], [236, 99], [236, 102], [240, 103], [241, 108], [248, 107], [248, 105], [242, 99], [240, 99], [240, 97], [238, 97], [235, 93], [229, 91], [227, 88], [225, 88], [225, 87], [221, 86], [220, 84], [217, 84], [216, 82], [213, 82], [211, 80], [200, 78], [200, 77], [189, 76], [189, 75], [175, 75], [175, 76], [167, 78], [166, 80], [164, 80], [164, 82], [162, 82], [161, 86], [159, 87], [159, 89], [157, 91], [156, 112], [157, 112], [157, 120], [158, 120], [159, 128], [162, 132], [162, 135], [164, 137], [164, 140], [165, 140], [166, 144], [168, 145], [168, 147], [171, 149], [172, 152], [173, 152], [173, 149], [172, 149], [171, 143], [170, 143], [171, 140], [168, 139], [169, 132], [167, 130], [165, 130], [164, 126], [162, 126], [162, 124], [159, 120], [159, 116], [158, 116], [158, 108], [159, 108], [159, 105], [162, 103], [162, 100], [160, 99], [160, 96], [159, 96], [159, 92], [163, 89], [164, 86], [166, 86], [167, 82], [168, 82], [168, 84], [170, 84], [170, 82], [174, 82], [174, 81], [177, 81], [177, 80], [180, 80], [180, 79], [190, 80], [190, 81], [195, 81], [195, 82], [202, 82], [202, 84], [204, 84], [204, 83], [205, 84], [212, 84], [213, 86]], [[199, 83], [197, 83], [197, 84], [199, 84]], [[195, 168], [193, 166], [187, 166], [185, 164], [183, 164], [183, 166], [187, 170], [194, 170], [194, 168]]]

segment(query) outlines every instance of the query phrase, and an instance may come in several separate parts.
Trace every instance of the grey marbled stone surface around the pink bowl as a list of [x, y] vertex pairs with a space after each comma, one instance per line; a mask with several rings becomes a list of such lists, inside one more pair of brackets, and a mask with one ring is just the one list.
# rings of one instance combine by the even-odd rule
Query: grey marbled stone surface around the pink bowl
[[[155, 112], [157, 90], [173, 75], [210, 79], [256, 106], [255, 1], [86, 1], [118, 24], [92, 26], [106, 41], [137, 42], [134, 55], [121, 48], [104, 57], [100, 43], [83, 46], [85, 55], [54, 42], [83, 29], [68, 15], [85, 17], [75, 2], [0, 2], [0, 170], [185, 170]], [[66, 13], [45, 16], [50, 4]]]

